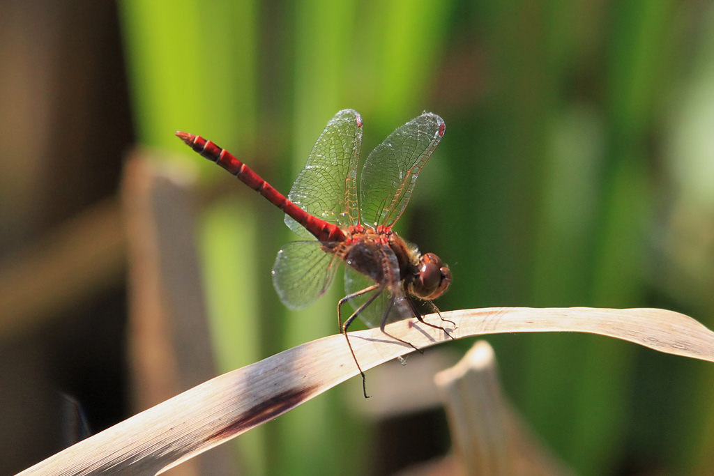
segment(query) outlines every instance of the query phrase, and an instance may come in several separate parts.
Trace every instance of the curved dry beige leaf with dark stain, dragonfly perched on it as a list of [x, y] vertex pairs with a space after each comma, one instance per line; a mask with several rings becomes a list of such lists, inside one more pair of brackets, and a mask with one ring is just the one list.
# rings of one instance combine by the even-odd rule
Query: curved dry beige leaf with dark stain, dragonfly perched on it
[[[661, 309], [484, 308], [443, 313], [454, 338], [572, 331], [629, 340], [714, 362], [714, 333]], [[426, 316], [439, 324], [435, 315]], [[451, 324], [446, 324], [447, 328]], [[451, 340], [442, 330], [403, 320], [392, 335], [419, 348]], [[379, 329], [350, 333], [364, 370], [413, 349]], [[358, 371], [342, 335], [313, 340], [220, 375], [49, 457], [21, 475], [149, 475], [178, 465], [323, 393]]]

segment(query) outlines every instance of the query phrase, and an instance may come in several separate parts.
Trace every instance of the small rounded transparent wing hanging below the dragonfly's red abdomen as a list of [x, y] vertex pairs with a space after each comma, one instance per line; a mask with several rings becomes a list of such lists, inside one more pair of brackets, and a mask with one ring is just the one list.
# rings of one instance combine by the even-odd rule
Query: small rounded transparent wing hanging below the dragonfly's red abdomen
[[273, 265], [273, 285], [280, 300], [292, 310], [311, 305], [330, 287], [339, 262], [317, 240], [286, 243]]

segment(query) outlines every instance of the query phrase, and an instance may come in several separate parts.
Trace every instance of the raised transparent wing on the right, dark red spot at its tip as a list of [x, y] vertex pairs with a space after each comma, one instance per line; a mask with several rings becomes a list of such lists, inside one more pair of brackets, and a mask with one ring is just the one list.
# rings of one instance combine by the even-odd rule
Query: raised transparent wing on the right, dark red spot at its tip
[[445, 128], [441, 117], [425, 112], [391, 133], [369, 154], [360, 192], [363, 224], [392, 226], [398, 220]]

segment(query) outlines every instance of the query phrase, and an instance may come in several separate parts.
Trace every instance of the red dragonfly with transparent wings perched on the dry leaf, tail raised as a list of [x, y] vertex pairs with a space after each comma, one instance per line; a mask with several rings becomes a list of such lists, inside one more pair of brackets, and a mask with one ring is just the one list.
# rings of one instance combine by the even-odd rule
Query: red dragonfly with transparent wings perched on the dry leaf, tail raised
[[[287, 197], [225, 149], [200, 136], [176, 133], [194, 151], [284, 211], [287, 226], [303, 238], [283, 246], [273, 266], [273, 284], [288, 308], [313, 303], [332, 283], [338, 265], [346, 263], [347, 295], [337, 305], [338, 324], [362, 376], [365, 397], [365, 375], [347, 335], [355, 318], [372, 327], [378, 323], [384, 333], [386, 323], [411, 317], [446, 332], [423, 321], [418, 303], [423, 301], [438, 313], [431, 300], [446, 291], [451, 271], [437, 255], [420, 254], [392, 230], [445, 129], [441, 117], [425, 112], [393, 131], [364, 164], [359, 207], [362, 117], [352, 109], [338, 112], [328, 122]], [[342, 306], [347, 302], [355, 310], [343, 320]]]

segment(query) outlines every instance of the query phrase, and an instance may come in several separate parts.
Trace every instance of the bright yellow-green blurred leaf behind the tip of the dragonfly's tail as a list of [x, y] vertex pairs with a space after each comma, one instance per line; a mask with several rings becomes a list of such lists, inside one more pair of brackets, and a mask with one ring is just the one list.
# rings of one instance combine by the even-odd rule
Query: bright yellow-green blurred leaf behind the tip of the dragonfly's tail
[[[118, 5], [139, 141], [180, 151], [172, 158], [183, 158], [202, 175], [219, 176], [223, 172], [200, 162], [174, 131], [200, 133], [239, 157], [254, 149], [256, 2], [128, 0]], [[232, 345], [241, 349], [234, 353], [231, 343], [216, 341], [218, 368], [223, 370], [264, 356], [254, 345], [252, 326], [261, 312], [250, 278], [258, 273], [257, 263], [243, 259], [247, 251], [238, 246], [255, 243], [257, 222], [249, 208], [236, 216], [218, 204], [198, 223], [203, 226], [203, 280], [212, 291], [207, 300], [213, 335], [231, 336]], [[266, 460], [263, 430], [246, 436], [239, 442], [245, 447], [243, 462], [261, 472]]]

